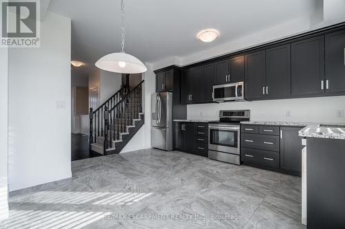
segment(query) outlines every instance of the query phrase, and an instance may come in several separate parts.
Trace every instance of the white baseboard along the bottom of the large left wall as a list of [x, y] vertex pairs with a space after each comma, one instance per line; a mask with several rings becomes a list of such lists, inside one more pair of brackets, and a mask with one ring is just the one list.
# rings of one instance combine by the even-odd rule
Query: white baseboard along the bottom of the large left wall
[[37, 186], [40, 184], [56, 182], [60, 179], [67, 179], [70, 177], [72, 177], [72, 171], [69, 171], [66, 174], [56, 175], [55, 177], [48, 177], [48, 178], [41, 177], [40, 179], [32, 179], [32, 181], [30, 181], [30, 182], [11, 183], [10, 179], [9, 179], [8, 188], [9, 188], [9, 191], [12, 192], [12, 191], [20, 190], [23, 188], [30, 188], [32, 186]]

